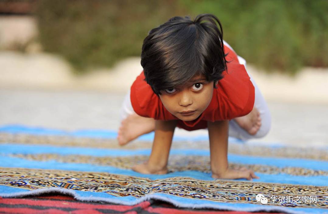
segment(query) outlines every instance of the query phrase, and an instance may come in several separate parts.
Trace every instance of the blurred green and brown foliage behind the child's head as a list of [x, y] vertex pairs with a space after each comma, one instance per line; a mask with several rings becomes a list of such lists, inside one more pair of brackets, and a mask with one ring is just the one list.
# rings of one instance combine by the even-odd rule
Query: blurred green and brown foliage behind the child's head
[[147, 33], [175, 15], [213, 13], [247, 62], [294, 74], [328, 66], [327, 12], [327, 0], [43, 0], [36, 16], [44, 50], [77, 72], [139, 56]]

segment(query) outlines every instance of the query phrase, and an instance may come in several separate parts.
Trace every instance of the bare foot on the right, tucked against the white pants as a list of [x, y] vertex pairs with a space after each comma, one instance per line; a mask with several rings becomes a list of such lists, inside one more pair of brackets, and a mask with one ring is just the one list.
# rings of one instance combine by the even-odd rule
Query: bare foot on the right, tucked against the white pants
[[255, 107], [248, 115], [235, 118], [235, 121], [241, 128], [243, 128], [250, 135], [255, 135], [261, 127], [260, 113]]

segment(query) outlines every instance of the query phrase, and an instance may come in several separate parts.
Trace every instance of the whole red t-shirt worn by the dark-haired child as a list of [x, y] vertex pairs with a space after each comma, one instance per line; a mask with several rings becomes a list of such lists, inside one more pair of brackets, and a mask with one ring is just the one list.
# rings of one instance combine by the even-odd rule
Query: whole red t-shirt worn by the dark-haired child
[[224, 46], [228, 73], [218, 81], [212, 101], [205, 111], [193, 121], [183, 121], [172, 115], [144, 80], [143, 71], [131, 86], [131, 104], [135, 113], [156, 120], [177, 119], [177, 126], [188, 131], [207, 128], [207, 121], [230, 120], [250, 113], [254, 106], [254, 86], [245, 67], [238, 62], [236, 53]]

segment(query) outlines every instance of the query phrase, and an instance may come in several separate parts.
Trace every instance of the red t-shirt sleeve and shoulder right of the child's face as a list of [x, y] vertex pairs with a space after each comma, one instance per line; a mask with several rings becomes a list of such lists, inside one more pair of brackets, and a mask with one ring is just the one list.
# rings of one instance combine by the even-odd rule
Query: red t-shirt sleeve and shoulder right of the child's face
[[249, 114], [254, 107], [255, 89], [244, 65], [239, 64], [237, 54], [224, 46], [227, 71], [218, 81], [205, 120], [230, 120]]

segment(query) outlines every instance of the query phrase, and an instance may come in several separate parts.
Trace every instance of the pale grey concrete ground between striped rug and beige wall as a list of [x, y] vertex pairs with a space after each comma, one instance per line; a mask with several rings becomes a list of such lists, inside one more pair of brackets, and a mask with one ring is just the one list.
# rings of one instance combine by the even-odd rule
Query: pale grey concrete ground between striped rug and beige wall
[[[117, 131], [124, 94], [92, 91], [0, 89], [0, 126], [20, 124], [61, 130]], [[251, 141], [296, 146], [328, 146], [328, 105], [268, 102], [270, 133]], [[176, 135], [206, 135], [206, 130]]]

